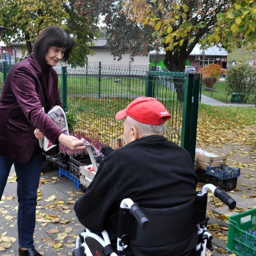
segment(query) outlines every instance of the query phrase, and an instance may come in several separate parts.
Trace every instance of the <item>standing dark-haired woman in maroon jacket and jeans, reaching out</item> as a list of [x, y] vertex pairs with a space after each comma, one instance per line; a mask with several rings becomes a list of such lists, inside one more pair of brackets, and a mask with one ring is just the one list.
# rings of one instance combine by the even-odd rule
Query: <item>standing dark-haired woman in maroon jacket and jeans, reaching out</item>
[[46, 114], [53, 106], [62, 108], [58, 76], [52, 67], [60, 60], [67, 61], [73, 48], [74, 41], [63, 29], [45, 28], [36, 38], [33, 52], [12, 67], [4, 83], [0, 102], [0, 198], [14, 164], [20, 256], [41, 255], [33, 245], [36, 191], [42, 168], [38, 139], [45, 135], [54, 144], [85, 148], [83, 140], [66, 136]]

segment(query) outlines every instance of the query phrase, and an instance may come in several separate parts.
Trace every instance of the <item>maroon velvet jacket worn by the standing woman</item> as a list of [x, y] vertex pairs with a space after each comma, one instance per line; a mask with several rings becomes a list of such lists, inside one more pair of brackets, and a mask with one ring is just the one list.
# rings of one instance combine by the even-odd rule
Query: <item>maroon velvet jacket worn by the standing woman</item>
[[[44, 73], [48, 81], [44, 79]], [[0, 101], [0, 155], [20, 163], [29, 161], [37, 139], [38, 128], [58, 143], [63, 131], [43, 111], [61, 106], [58, 76], [52, 67], [42, 70], [37, 57], [31, 53], [15, 64], [4, 82]]]

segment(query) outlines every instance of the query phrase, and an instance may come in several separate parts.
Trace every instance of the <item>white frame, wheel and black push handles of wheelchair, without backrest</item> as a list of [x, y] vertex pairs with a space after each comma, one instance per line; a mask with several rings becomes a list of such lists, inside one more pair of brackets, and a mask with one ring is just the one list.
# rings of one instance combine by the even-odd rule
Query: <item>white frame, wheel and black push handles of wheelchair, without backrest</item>
[[[220, 198], [220, 200], [228, 206], [229, 209], [236, 208], [236, 201], [232, 199], [227, 193], [223, 192], [220, 188], [216, 188], [216, 186], [212, 184], [205, 184], [201, 191], [196, 192], [196, 230], [198, 234], [198, 243], [195, 249], [195, 256], [205, 256], [206, 250], [213, 250], [211, 240], [212, 235], [207, 232], [207, 221], [209, 218], [206, 218], [206, 209], [207, 209], [207, 191], [208, 189], [214, 193], [214, 196]], [[134, 204], [134, 202], [130, 198], [125, 198], [122, 200], [120, 204], [121, 209], [129, 209], [130, 213], [134, 216], [134, 218], [140, 223], [141, 228], [147, 229], [150, 225], [150, 220], [148, 220], [147, 216], [141, 211], [138, 204]], [[109, 240], [108, 232], [104, 230], [101, 233], [100, 237], [97, 234], [90, 232], [87, 228], [85, 232], [82, 232], [77, 236], [76, 239], [76, 248], [72, 250], [73, 256], [118, 256], [121, 254], [116, 254], [113, 251], [111, 246], [111, 242]], [[93, 241], [97, 241], [96, 243], [100, 244], [100, 249], [92, 248], [94, 244], [89, 244], [86, 241], [87, 238], [91, 238]], [[88, 239], [87, 239], [88, 240]], [[90, 240], [89, 240], [90, 242]], [[127, 248], [127, 244], [125, 244], [125, 239], [122, 237], [118, 237], [117, 239], [117, 250], [118, 252], [122, 252]], [[93, 242], [94, 243], [94, 242]], [[99, 250], [102, 249], [102, 252]]]

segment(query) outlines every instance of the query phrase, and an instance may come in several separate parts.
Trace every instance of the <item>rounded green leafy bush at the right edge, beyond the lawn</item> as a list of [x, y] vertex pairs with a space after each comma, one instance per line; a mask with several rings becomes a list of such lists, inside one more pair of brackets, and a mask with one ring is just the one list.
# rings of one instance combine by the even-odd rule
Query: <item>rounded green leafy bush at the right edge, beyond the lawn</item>
[[228, 68], [226, 91], [239, 93], [240, 102], [246, 103], [250, 94], [256, 92], [256, 68], [248, 64], [237, 64]]

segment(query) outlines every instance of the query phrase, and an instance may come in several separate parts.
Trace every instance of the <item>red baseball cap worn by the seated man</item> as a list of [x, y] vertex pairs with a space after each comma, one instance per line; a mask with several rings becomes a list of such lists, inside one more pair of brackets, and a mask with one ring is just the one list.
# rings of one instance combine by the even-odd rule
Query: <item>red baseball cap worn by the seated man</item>
[[163, 104], [155, 98], [138, 97], [127, 106], [127, 108], [116, 113], [116, 120], [131, 116], [134, 120], [143, 124], [160, 125], [172, 116]]

